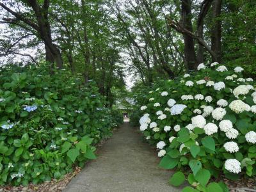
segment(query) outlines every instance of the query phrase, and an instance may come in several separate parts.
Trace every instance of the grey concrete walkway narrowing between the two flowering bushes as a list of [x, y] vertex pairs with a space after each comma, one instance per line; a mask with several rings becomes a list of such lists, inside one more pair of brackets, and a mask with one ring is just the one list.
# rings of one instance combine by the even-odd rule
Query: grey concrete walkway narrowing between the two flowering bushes
[[168, 184], [173, 172], [158, 168], [158, 163], [156, 150], [124, 122], [64, 191], [181, 191]]

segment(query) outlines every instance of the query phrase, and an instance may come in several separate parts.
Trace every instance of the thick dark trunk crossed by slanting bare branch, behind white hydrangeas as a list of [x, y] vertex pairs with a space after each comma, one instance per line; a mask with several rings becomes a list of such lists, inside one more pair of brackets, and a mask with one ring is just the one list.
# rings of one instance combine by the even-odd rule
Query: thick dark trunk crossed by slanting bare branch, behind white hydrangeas
[[[191, 15], [191, 0], [182, 0], [181, 2], [181, 21], [182, 26], [189, 31], [193, 31], [192, 28], [192, 15]], [[198, 62], [196, 61], [195, 44], [191, 36], [184, 34], [184, 54], [185, 63], [188, 70], [195, 70]]]

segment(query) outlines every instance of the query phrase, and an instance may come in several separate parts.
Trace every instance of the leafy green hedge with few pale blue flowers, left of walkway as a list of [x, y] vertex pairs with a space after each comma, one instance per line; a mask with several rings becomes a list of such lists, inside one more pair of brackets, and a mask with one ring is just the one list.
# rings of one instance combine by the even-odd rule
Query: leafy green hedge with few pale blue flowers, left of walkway
[[104, 104], [93, 81], [84, 86], [66, 70], [1, 68], [0, 184], [60, 179], [95, 159], [93, 145], [121, 121]]

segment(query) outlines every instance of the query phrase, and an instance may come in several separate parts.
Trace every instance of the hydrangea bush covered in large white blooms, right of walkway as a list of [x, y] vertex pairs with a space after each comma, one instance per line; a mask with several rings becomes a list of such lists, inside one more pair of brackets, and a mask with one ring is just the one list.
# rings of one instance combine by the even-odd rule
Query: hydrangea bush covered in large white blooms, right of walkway
[[211, 177], [256, 175], [255, 90], [253, 79], [243, 78], [243, 68], [211, 63], [137, 95], [140, 130], [159, 150], [159, 166], [181, 170], [171, 184], [182, 184], [186, 175], [200, 191], [221, 191], [223, 183], [208, 184]]

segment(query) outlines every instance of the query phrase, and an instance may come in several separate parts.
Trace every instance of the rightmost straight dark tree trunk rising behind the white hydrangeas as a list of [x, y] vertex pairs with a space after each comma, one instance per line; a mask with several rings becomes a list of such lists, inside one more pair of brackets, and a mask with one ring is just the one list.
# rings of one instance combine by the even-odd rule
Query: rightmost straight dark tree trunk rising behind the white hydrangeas
[[212, 17], [214, 25], [212, 26], [211, 49], [216, 53], [216, 58], [212, 57], [212, 61], [221, 63], [221, 3], [222, 0], [214, 0], [212, 4]]

